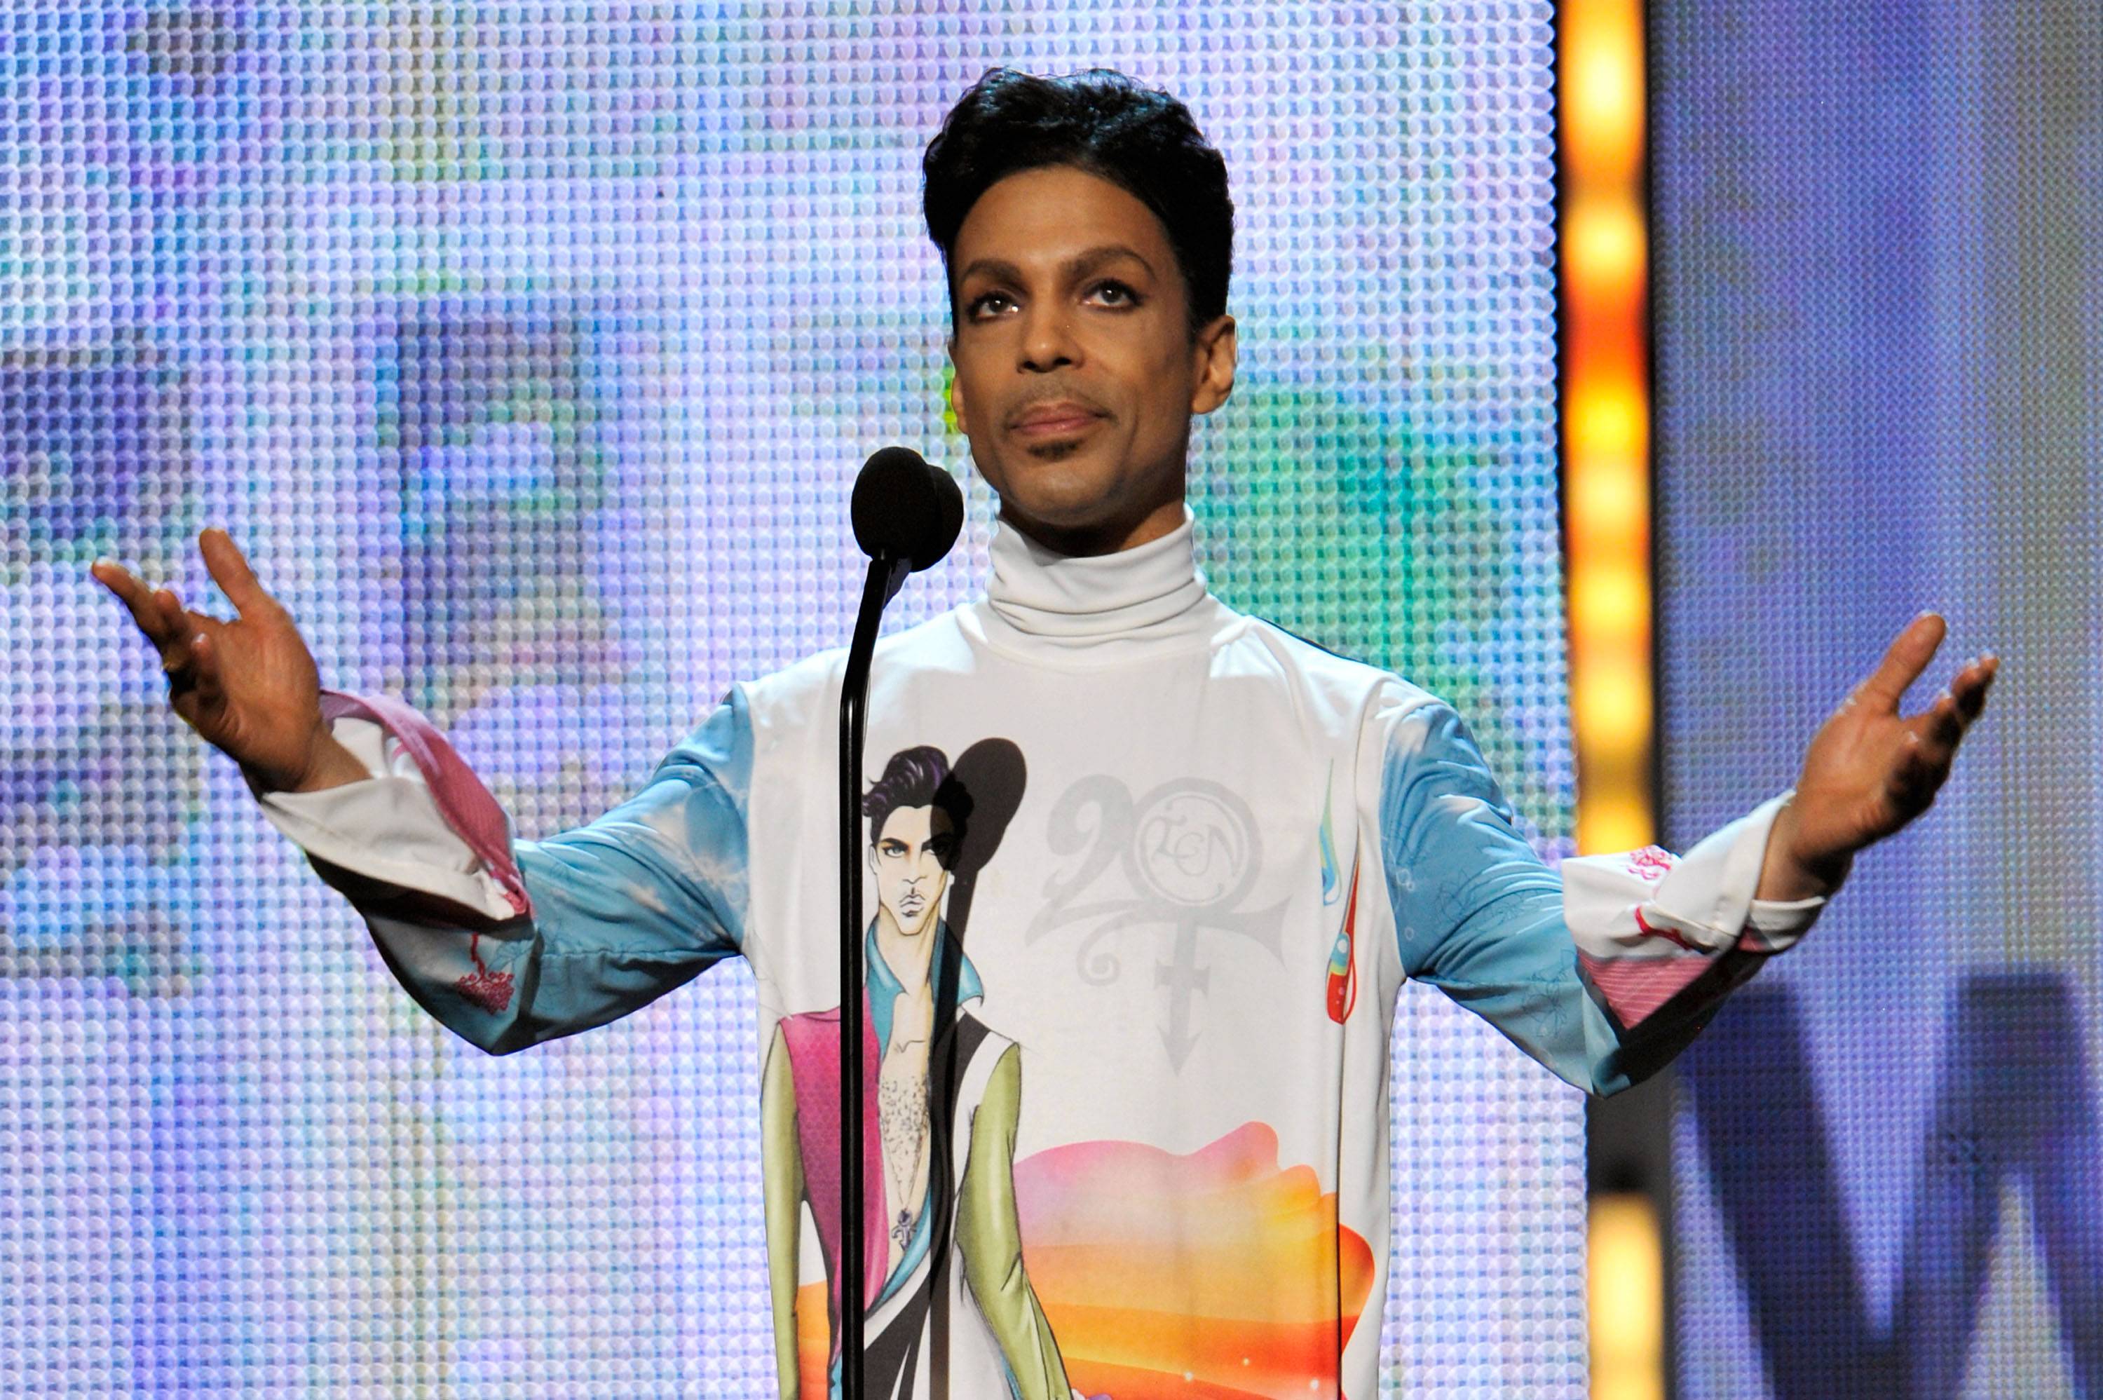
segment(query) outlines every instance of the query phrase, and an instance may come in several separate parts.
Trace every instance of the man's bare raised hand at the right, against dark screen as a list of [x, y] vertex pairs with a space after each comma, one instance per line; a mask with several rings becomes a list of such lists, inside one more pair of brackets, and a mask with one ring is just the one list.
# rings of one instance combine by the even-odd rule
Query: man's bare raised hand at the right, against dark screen
[[1758, 898], [1832, 893], [1846, 879], [1855, 851], [1935, 803], [2000, 668], [1992, 652], [1966, 662], [1926, 711], [1899, 715], [1899, 698], [1928, 668], [1945, 631], [1933, 612], [1907, 622], [1876, 673], [1819, 725], [1804, 750], [1796, 797], [1767, 839]]

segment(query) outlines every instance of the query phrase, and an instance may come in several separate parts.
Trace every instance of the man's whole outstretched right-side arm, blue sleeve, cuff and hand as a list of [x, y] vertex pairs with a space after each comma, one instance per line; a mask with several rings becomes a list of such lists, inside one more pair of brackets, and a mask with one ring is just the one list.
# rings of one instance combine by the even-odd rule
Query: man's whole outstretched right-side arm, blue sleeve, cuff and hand
[[1813, 740], [1798, 788], [1697, 843], [1550, 870], [1466, 725], [1396, 706], [1380, 832], [1403, 967], [1565, 1080], [1615, 1093], [1668, 1064], [1731, 990], [1809, 929], [1863, 845], [1933, 801], [1994, 660], [1912, 719], [1897, 698], [1941, 639], [1907, 626]]

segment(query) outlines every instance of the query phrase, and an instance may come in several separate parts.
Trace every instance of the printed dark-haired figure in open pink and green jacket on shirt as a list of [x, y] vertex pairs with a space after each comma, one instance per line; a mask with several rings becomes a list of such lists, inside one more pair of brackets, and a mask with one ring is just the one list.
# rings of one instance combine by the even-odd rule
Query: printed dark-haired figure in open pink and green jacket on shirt
[[[877, 910], [864, 942], [864, 1383], [871, 1396], [1066, 1400], [1052, 1326], [1022, 1268], [1014, 1194], [1020, 1049], [974, 1013], [965, 954], [978, 872], [1022, 801], [1007, 740], [957, 763], [900, 748], [862, 797]], [[839, 1389], [843, 1221], [839, 1009], [782, 1017], [761, 1118], [776, 1366], [784, 1396]], [[826, 1282], [797, 1286], [803, 1211]]]

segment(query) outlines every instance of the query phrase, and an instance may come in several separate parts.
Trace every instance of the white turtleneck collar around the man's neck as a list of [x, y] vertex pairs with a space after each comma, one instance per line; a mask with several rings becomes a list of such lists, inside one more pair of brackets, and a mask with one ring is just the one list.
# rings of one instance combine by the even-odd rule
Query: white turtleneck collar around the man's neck
[[1110, 555], [1060, 555], [999, 521], [991, 557], [986, 599], [976, 612], [995, 645], [1087, 652], [1106, 662], [1211, 637], [1237, 620], [1205, 593], [1190, 507], [1159, 540]]

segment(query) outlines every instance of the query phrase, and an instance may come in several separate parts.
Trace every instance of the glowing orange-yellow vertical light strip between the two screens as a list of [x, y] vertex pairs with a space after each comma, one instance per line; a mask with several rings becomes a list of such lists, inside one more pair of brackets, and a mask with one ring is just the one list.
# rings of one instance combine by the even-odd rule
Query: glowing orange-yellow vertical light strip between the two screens
[[[1577, 849], [1626, 851], [1657, 832], [1640, 0], [1558, 6], [1556, 90]], [[1594, 1196], [1586, 1257], [1592, 1400], [1663, 1400], [1663, 1238], [1653, 1200]]]

